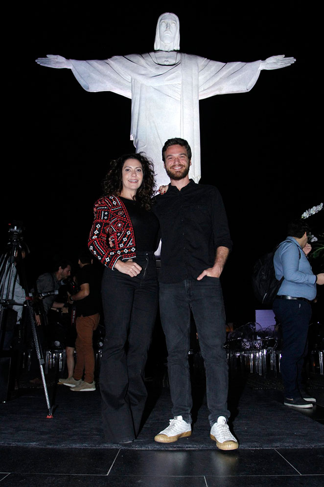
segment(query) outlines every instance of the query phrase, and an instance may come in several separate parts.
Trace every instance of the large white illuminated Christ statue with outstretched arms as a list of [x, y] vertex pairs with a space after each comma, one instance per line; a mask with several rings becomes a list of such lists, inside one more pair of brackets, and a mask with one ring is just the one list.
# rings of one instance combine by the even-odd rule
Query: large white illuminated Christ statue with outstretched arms
[[292, 57], [279, 55], [251, 63], [221, 63], [179, 49], [179, 19], [167, 12], [159, 17], [152, 52], [92, 61], [48, 54], [36, 62], [71, 69], [87, 91], [113, 91], [132, 99], [131, 140], [136, 152], [143, 151], [152, 158], [159, 187], [169, 182], [161, 149], [171, 137], [189, 142], [193, 148], [189, 177], [196, 182], [200, 179], [199, 100], [244, 93], [253, 88], [260, 70], [284, 68], [295, 62]]

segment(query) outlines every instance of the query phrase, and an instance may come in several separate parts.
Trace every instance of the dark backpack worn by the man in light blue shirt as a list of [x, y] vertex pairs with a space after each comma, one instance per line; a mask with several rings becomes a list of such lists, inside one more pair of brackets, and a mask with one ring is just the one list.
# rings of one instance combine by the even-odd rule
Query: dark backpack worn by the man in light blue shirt
[[[285, 240], [290, 242], [290, 240]], [[281, 242], [284, 243], [284, 242]], [[257, 259], [253, 266], [252, 272], [252, 287], [253, 292], [258, 301], [263, 305], [272, 305], [276, 295], [278, 294], [279, 287], [284, 279], [276, 279], [274, 255], [281, 243], [275, 248], [273, 252], [265, 254]], [[301, 254], [299, 255], [301, 258]]]

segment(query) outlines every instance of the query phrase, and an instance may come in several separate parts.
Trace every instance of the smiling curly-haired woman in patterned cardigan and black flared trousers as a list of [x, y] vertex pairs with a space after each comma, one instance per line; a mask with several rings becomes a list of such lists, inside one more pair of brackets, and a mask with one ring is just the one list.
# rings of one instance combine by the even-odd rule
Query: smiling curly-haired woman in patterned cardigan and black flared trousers
[[89, 248], [106, 266], [100, 391], [104, 433], [112, 443], [136, 438], [147, 396], [143, 375], [158, 303], [154, 186], [152, 162], [141, 153], [123, 155], [111, 162], [104, 197], [94, 205]]

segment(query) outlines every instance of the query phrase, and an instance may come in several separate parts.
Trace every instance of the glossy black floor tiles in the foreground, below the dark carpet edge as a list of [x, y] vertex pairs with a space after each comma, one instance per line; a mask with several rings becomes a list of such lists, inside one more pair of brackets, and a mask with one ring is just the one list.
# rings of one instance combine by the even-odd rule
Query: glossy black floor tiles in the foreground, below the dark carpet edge
[[0, 448], [0, 471], [1, 487], [320, 487], [324, 449], [222, 452], [12, 446]]

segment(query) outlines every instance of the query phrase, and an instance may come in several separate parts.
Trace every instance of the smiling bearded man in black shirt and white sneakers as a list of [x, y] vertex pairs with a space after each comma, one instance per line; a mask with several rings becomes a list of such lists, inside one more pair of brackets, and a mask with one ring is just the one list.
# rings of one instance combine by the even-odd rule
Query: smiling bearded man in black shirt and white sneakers
[[154, 211], [161, 226], [160, 313], [174, 418], [155, 441], [169, 443], [191, 435], [191, 309], [205, 361], [210, 437], [218, 448], [233, 450], [238, 442], [227, 424], [226, 323], [219, 281], [231, 250], [227, 217], [218, 190], [189, 179], [191, 149], [186, 140], [167, 140], [162, 159], [171, 182], [167, 192], [156, 197]]

